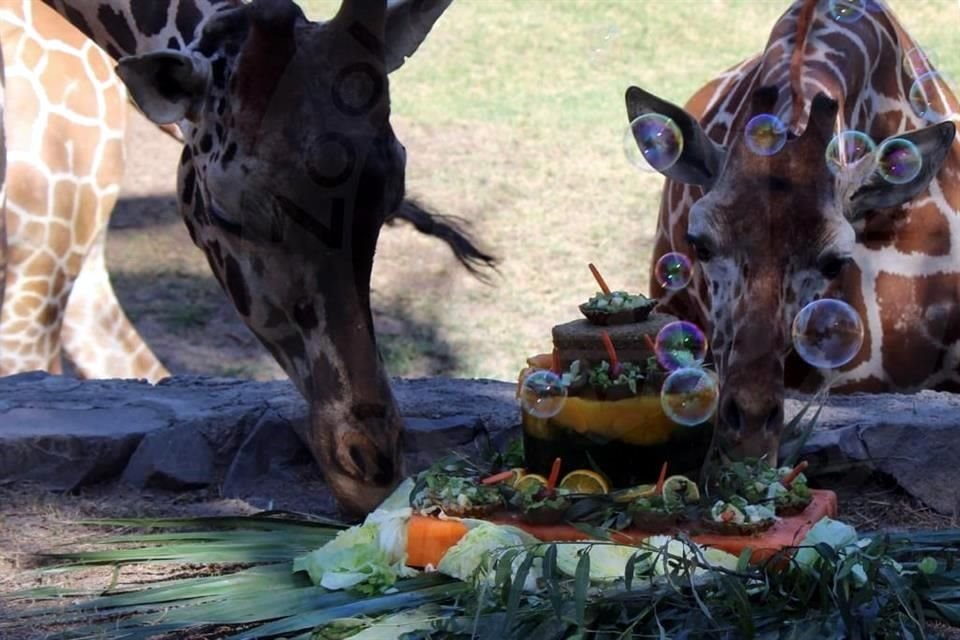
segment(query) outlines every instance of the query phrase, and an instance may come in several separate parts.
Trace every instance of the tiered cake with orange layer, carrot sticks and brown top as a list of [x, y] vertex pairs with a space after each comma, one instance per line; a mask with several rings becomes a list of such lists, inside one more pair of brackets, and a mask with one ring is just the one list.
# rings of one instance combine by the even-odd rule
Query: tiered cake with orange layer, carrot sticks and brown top
[[[567, 390], [555, 415], [537, 417], [522, 410], [529, 470], [546, 473], [560, 457], [567, 468], [593, 468], [614, 487], [625, 487], [655, 481], [664, 462], [671, 473], [695, 472], [702, 465], [711, 425], [676, 424], [661, 406], [660, 390], [669, 372], [657, 363], [654, 341], [676, 318], [651, 313], [656, 301], [642, 296], [629, 296], [639, 307], [635, 313], [592, 313], [598, 301], [606, 306], [604, 299], [625, 295], [598, 294], [581, 305], [590, 320], [555, 326], [554, 353], [527, 360], [521, 388], [534, 371], [553, 369]], [[616, 371], [604, 333], [615, 352]]]

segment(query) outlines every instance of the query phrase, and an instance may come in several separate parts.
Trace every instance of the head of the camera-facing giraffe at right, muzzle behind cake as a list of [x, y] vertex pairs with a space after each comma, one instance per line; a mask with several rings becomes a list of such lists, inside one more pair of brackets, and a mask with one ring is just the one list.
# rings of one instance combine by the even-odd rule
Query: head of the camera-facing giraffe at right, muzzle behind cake
[[674, 250], [698, 263], [697, 284], [710, 301], [705, 330], [721, 385], [714, 448], [722, 459], [767, 456], [775, 464], [794, 317], [813, 300], [843, 291], [844, 280], [856, 281], [863, 221], [893, 215], [926, 190], [955, 127], [944, 122], [898, 136], [923, 156], [920, 174], [898, 185], [877, 174], [873, 155], [831, 172], [825, 156], [838, 103], [822, 93], [809, 103], [806, 127], [791, 130], [774, 155], [753, 153], [744, 136], [752, 117], [778, 113], [774, 87], [753, 90], [729, 122], [726, 145], [688, 112], [641, 89], [631, 87], [626, 102], [631, 121], [657, 113], [677, 124], [684, 146], [662, 173], [702, 194], [694, 196], [686, 228], [672, 237]]

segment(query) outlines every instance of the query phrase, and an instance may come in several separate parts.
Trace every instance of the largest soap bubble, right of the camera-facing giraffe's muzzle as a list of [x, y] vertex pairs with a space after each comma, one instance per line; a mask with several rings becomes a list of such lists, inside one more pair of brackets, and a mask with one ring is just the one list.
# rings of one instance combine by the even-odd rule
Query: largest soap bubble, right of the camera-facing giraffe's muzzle
[[860, 315], [842, 300], [815, 300], [793, 319], [793, 347], [818, 369], [842, 367], [853, 360], [862, 344]]

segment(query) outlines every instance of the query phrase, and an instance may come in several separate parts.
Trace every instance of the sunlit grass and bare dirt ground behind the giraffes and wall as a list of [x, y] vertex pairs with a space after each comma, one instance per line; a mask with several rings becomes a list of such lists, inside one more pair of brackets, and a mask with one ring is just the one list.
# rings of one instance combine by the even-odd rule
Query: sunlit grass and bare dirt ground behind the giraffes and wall
[[[960, 77], [960, 2], [888, 0], [935, 64]], [[301, 1], [315, 19], [336, 0]], [[391, 76], [407, 192], [459, 216], [502, 259], [477, 282], [441, 242], [385, 228], [374, 268], [395, 376], [515, 379], [596, 289], [647, 293], [662, 179], [623, 152], [623, 94], [683, 104], [759, 52], [778, 0], [455, 0]], [[954, 83], [954, 87], [956, 84]], [[284, 377], [190, 242], [173, 189], [178, 145], [131, 110], [108, 262], [121, 304], [175, 374]]]

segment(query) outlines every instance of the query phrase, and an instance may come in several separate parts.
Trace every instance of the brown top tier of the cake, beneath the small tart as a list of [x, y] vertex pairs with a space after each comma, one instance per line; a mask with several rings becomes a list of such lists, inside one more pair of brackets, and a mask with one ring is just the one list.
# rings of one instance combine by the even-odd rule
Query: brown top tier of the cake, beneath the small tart
[[579, 359], [606, 360], [602, 337], [606, 331], [621, 362], [641, 362], [653, 355], [645, 336], [653, 342], [660, 329], [676, 320], [661, 313], [653, 313], [643, 322], [606, 327], [590, 324], [585, 319], [573, 320], [553, 328], [553, 346], [560, 352], [560, 361], [565, 367]]

